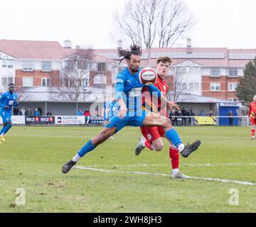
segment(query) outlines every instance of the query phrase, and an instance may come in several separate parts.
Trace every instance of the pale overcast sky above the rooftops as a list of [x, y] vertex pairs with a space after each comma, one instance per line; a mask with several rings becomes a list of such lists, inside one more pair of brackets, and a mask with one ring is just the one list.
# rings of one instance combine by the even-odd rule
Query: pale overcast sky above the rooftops
[[[143, 0], [142, 0], [143, 1]], [[256, 48], [255, 0], [184, 0], [196, 19], [187, 37], [193, 47]], [[112, 12], [125, 0], [0, 0], [0, 39], [71, 40], [115, 48]], [[186, 40], [178, 40], [184, 47]]]

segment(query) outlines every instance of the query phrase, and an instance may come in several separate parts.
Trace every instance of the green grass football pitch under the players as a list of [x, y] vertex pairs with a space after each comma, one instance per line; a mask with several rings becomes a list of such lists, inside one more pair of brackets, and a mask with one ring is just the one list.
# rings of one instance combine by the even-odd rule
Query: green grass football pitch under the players
[[[183, 174], [213, 180], [171, 179], [166, 140], [161, 152], [144, 149], [135, 156], [141, 134], [132, 127], [78, 163], [112, 172], [73, 169], [64, 175], [62, 165], [101, 128], [14, 126], [0, 144], [0, 212], [256, 212], [256, 140], [250, 140], [250, 128], [176, 129], [183, 143], [202, 141], [191, 156], [180, 157]], [[25, 190], [25, 205], [14, 202], [18, 188]]]

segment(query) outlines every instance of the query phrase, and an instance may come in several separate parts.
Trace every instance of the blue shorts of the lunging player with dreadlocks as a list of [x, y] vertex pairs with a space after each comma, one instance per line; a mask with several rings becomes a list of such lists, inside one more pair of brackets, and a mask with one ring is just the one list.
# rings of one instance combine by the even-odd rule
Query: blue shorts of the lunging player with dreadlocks
[[119, 118], [119, 116], [112, 116], [107, 124], [106, 128], [114, 128], [117, 127], [116, 133], [124, 128], [125, 126], [142, 126], [142, 123], [148, 114], [147, 111], [142, 111], [142, 116], [124, 116], [124, 118]]

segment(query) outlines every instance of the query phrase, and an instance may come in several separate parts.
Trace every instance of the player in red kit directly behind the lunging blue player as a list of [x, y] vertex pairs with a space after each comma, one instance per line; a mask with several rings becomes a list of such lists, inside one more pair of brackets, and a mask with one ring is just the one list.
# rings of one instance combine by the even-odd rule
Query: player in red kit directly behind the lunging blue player
[[[164, 80], [164, 77], [166, 77], [167, 72], [170, 69], [171, 65], [171, 59], [170, 57], [159, 57], [156, 60], [156, 72], [157, 72], [157, 79], [156, 82], [154, 83], [154, 86], [156, 86], [161, 93], [167, 97], [168, 93], [168, 84]], [[167, 109], [166, 109], [166, 104], [162, 104], [161, 100], [159, 99], [157, 102], [157, 107], [154, 105], [154, 101], [151, 101], [151, 96], [148, 93], [146, 95], [146, 89], [143, 90], [144, 95], [143, 98], [143, 103], [145, 106], [149, 106], [148, 108], [151, 109], [151, 111], [159, 112], [161, 115], [167, 116]], [[145, 107], [146, 108], [146, 107]], [[148, 109], [146, 108], [146, 109]], [[156, 150], [160, 151], [164, 148], [164, 143], [161, 139], [161, 137], [164, 137], [164, 130], [163, 128], [159, 126], [154, 126], [154, 127], [146, 127], [146, 126], [141, 126], [140, 127], [142, 131], [143, 137], [139, 139], [139, 143], [137, 144], [137, 147], [135, 148], [135, 155], [139, 155], [144, 148], [149, 148], [150, 150]], [[169, 156], [171, 158], [171, 166], [172, 166], [172, 178], [188, 178], [187, 176], [183, 175], [179, 170], [178, 170], [178, 164], [179, 164], [179, 153], [178, 149], [175, 147], [175, 145], [171, 144], [169, 145]]]

